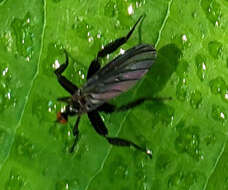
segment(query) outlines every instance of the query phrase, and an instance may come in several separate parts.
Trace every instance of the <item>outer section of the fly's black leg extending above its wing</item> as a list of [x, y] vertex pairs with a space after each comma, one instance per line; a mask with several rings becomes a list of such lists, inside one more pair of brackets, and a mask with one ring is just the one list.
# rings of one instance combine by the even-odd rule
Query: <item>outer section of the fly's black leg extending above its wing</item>
[[118, 38], [115, 41], [107, 44], [104, 49], [100, 50], [97, 54], [97, 57], [105, 57], [107, 54], [114, 52], [117, 50], [121, 45], [127, 42], [127, 40], [132, 35], [133, 31], [135, 30], [137, 24], [144, 16], [140, 16], [135, 25], [132, 27], [132, 29], [128, 32], [128, 34], [124, 37]]

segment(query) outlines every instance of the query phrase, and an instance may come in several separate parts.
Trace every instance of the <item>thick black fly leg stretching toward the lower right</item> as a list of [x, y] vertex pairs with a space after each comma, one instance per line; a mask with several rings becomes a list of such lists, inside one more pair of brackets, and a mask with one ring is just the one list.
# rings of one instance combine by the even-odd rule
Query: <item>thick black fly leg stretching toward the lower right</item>
[[110, 144], [115, 145], [115, 146], [128, 146], [128, 147], [133, 146], [136, 149], [146, 153], [149, 157], [151, 157], [150, 151], [138, 146], [137, 144], [135, 144], [129, 140], [125, 140], [125, 139], [121, 139], [121, 138], [117, 138], [117, 137], [107, 137], [108, 130], [105, 127], [105, 124], [102, 121], [102, 119], [97, 111], [89, 112], [88, 117], [89, 117], [89, 120], [92, 123], [94, 129], [96, 130], [96, 132], [98, 134], [104, 136]]

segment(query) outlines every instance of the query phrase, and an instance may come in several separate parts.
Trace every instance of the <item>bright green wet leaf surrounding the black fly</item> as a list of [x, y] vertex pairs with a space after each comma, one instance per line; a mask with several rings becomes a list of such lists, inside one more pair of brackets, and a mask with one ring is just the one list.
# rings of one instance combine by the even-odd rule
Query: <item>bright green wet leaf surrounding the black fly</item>
[[[227, 0], [0, 0], [0, 189], [227, 189]], [[87, 116], [69, 153], [76, 118], [55, 122], [68, 95], [54, 69], [70, 55], [64, 75], [78, 86], [103, 45], [126, 35], [122, 49], [154, 44], [158, 57], [146, 77], [112, 100], [124, 112], [102, 113], [109, 136], [152, 150], [114, 147]], [[106, 64], [115, 55], [105, 58]]]

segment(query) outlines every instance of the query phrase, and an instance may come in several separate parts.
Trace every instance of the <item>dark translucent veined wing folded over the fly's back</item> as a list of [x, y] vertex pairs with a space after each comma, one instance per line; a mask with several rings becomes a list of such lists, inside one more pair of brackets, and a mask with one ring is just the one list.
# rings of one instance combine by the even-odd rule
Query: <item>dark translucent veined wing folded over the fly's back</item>
[[145, 44], [117, 56], [92, 75], [83, 86], [87, 108], [95, 109], [127, 91], [148, 72], [155, 59], [156, 50]]

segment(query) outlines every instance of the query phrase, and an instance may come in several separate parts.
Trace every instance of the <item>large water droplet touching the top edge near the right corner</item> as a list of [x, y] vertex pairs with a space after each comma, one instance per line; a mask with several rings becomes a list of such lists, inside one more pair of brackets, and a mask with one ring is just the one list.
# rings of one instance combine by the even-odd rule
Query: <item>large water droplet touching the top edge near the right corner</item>
[[209, 19], [214, 26], [220, 26], [222, 11], [219, 4], [214, 0], [202, 0], [201, 7], [207, 16], [207, 19]]

